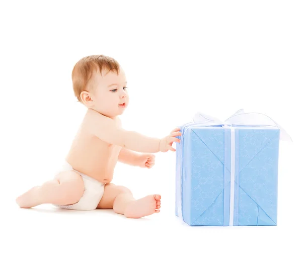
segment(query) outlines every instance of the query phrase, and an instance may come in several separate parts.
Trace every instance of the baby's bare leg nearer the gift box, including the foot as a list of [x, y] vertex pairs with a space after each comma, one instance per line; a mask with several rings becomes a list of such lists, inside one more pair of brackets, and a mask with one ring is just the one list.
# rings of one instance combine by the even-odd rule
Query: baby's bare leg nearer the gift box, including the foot
[[104, 195], [98, 205], [98, 209], [113, 209], [116, 213], [128, 218], [140, 218], [159, 213], [160, 208], [160, 195], [149, 195], [135, 200], [128, 188], [111, 183], [105, 185]]

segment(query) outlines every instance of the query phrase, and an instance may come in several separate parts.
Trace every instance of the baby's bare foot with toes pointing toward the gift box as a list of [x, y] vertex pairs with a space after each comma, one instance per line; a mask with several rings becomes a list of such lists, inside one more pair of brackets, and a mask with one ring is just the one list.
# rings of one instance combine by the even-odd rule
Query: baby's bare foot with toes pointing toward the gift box
[[129, 203], [124, 215], [128, 218], [140, 218], [143, 216], [159, 213], [161, 208], [161, 196], [150, 195]]

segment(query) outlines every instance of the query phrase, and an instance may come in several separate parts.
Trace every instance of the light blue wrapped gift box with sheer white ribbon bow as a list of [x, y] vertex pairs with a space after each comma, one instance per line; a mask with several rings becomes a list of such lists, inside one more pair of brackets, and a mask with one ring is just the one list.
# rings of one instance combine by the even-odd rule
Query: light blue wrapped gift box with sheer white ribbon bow
[[176, 143], [175, 213], [190, 226], [277, 225], [280, 139], [270, 117], [238, 111], [224, 122], [197, 113]]

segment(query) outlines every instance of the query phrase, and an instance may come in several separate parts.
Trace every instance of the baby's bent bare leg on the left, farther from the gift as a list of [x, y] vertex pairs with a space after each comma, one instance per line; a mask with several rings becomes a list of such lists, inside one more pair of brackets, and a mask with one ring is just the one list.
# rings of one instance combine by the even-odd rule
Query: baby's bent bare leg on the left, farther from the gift
[[56, 179], [36, 186], [16, 202], [21, 208], [32, 208], [41, 204], [69, 205], [77, 203], [84, 192], [82, 176], [70, 170], [61, 172]]

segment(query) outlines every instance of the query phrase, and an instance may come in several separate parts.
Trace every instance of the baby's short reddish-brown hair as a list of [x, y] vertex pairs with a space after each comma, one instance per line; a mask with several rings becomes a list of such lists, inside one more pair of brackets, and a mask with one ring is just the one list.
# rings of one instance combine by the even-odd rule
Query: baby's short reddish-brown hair
[[119, 73], [119, 63], [111, 57], [105, 55], [90, 55], [80, 59], [72, 69], [72, 87], [75, 97], [81, 102], [80, 95], [86, 90], [93, 72], [102, 73], [103, 69]]

